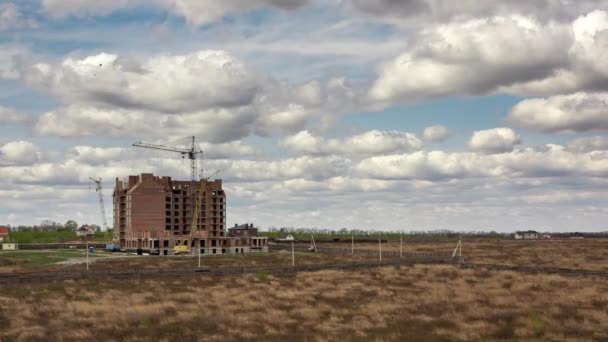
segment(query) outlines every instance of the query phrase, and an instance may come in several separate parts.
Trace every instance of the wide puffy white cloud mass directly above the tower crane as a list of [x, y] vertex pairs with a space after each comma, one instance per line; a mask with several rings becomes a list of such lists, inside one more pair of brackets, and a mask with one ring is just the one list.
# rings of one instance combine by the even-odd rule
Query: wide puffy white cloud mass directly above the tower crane
[[292, 134], [341, 103], [356, 102], [343, 79], [285, 84], [219, 50], [146, 60], [70, 57], [32, 66], [25, 80], [68, 104], [43, 113], [35, 125], [39, 134], [64, 137], [195, 135], [227, 143]]

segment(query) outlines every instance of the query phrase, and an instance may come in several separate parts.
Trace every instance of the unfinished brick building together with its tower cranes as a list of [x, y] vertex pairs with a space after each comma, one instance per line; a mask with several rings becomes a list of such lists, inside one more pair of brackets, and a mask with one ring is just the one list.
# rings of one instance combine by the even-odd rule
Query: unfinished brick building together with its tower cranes
[[[227, 201], [222, 180], [210, 180], [219, 170], [206, 178], [199, 176], [198, 160], [203, 151], [195, 137], [189, 139], [187, 148], [133, 144], [187, 157], [192, 179], [173, 180], [151, 173], [116, 177], [112, 193], [114, 241], [107, 249], [140, 255], [268, 252], [268, 239], [257, 236], [257, 230], [226, 230]], [[102, 224], [107, 229], [101, 179], [90, 179], [96, 184]]]

